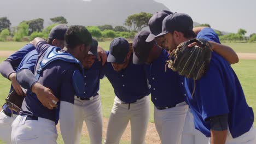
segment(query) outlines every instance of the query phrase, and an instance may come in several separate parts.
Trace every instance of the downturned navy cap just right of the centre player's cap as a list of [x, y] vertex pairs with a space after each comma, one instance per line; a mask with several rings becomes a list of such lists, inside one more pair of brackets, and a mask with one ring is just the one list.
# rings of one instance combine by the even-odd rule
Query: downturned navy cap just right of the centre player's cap
[[132, 42], [134, 64], [144, 64], [149, 56], [149, 52], [155, 44], [155, 41], [147, 42], [146, 39], [150, 33], [148, 31], [138, 32]]

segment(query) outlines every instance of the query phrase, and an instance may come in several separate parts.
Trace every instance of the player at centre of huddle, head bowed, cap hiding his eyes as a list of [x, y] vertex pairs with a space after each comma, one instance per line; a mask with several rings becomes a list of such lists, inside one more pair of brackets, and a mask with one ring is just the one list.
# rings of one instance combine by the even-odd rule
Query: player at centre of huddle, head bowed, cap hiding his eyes
[[119, 143], [129, 121], [131, 143], [145, 143], [149, 121], [149, 87], [144, 65], [132, 64], [132, 52], [124, 38], [115, 38], [107, 52], [102, 73], [114, 88], [105, 143]]

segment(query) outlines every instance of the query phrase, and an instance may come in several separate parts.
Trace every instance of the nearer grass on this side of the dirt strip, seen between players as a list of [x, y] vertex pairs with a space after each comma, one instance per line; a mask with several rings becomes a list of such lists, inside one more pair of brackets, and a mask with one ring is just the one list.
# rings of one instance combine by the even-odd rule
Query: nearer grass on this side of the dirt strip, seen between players
[[[0, 58], [2, 62], [4, 58]], [[238, 64], [232, 65], [236, 74], [241, 82], [243, 90], [245, 92], [247, 102], [250, 106], [253, 107], [253, 110], [256, 111], [256, 67], [255, 65], [256, 60], [240, 60]], [[0, 76], [0, 105], [4, 103], [4, 98], [6, 97], [10, 88], [10, 81], [4, 79], [3, 76]], [[103, 117], [109, 117], [110, 110], [112, 109], [113, 100], [114, 100], [114, 92], [113, 88], [105, 78], [101, 81], [101, 101], [102, 101], [102, 110], [103, 110]], [[150, 122], [153, 121], [153, 105], [151, 105], [151, 112], [150, 112]], [[255, 121], [254, 121], [255, 122]], [[82, 143], [88, 143], [89, 138], [88, 134], [83, 135]], [[1, 143], [1, 142], [0, 142]], [[59, 135], [58, 143], [63, 143], [61, 139], [61, 135]], [[121, 143], [129, 143], [127, 141], [122, 141]]]

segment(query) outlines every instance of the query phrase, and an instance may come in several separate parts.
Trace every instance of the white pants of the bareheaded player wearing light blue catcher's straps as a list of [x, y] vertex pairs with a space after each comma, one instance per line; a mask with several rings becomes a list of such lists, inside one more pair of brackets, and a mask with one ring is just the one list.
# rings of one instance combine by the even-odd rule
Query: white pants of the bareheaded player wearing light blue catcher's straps
[[27, 115], [17, 116], [11, 125], [11, 143], [13, 144], [57, 144], [58, 137], [55, 122], [49, 119], [26, 120]]

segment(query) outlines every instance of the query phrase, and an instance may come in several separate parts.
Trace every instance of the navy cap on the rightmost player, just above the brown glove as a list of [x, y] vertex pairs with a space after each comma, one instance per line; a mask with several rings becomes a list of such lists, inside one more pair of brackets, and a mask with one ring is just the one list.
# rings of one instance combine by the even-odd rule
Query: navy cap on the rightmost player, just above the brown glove
[[162, 21], [162, 32], [156, 37], [160, 37], [161, 35], [165, 35], [168, 32], [178, 31], [193, 31], [193, 20], [187, 14], [182, 13], [174, 13], [165, 17], [164, 21]]

